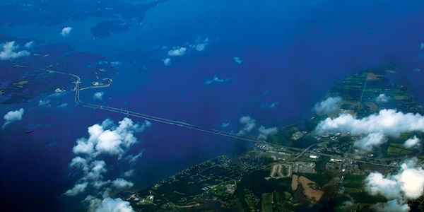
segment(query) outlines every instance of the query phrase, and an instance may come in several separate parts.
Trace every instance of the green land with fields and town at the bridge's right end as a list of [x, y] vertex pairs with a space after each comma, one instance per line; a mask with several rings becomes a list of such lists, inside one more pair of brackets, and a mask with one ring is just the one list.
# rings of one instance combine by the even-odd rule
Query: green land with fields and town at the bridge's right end
[[[379, 66], [346, 78], [324, 98], [341, 97], [337, 111], [282, 127], [235, 161], [213, 158], [121, 197], [136, 211], [369, 211], [387, 200], [365, 192], [365, 177], [374, 171], [395, 173], [406, 157], [422, 161], [423, 146], [406, 148], [399, 140], [413, 135], [423, 139], [424, 134], [404, 133], [401, 139], [388, 139], [364, 151], [353, 146], [358, 136], [317, 134], [315, 128], [327, 117], [342, 113], [362, 118], [396, 108], [423, 114], [406, 87], [385, 77], [396, 74], [396, 69]], [[381, 93], [390, 101], [377, 101]], [[353, 204], [346, 206], [346, 201]], [[408, 204], [423, 211], [421, 201], [422, 196]]]

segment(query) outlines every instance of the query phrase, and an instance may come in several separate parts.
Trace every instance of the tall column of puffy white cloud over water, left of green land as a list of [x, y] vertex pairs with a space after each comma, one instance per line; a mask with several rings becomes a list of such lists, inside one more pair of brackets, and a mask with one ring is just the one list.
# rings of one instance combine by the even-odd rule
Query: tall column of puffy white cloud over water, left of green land
[[[90, 203], [90, 211], [101, 211], [103, 209], [113, 211], [113, 208], [118, 208], [116, 210], [131, 209], [131, 207], [126, 207], [129, 206], [126, 201], [108, 199], [110, 193], [114, 190], [128, 189], [134, 184], [128, 179], [115, 178], [116, 176], [113, 177], [115, 179], [112, 178], [113, 180], [107, 179], [112, 177], [113, 174], [108, 172], [111, 167], [107, 165], [105, 161], [108, 160], [105, 160], [105, 158], [116, 157], [115, 161], [122, 169], [119, 176], [131, 177], [134, 170], [122, 168], [131, 165], [131, 163], [128, 163], [128, 160], [120, 160], [120, 158], [126, 155], [134, 144], [138, 143], [134, 133], [141, 132], [149, 126], [151, 126], [150, 122], [136, 124], [125, 117], [118, 122], [118, 125], [110, 119], [105, 119], [101, 124], [88, 127], [88, 138], [77, 139], [76, 145], [73, 146], [73, 153], [76, 156], [69, 163], [69, 167], [81, 172], [82, 177], [78, 179], [73, 188], [64, 192], [64, 195], [76, 196], [83, 192], [95, 194], [95, 196], [88, 195], [85, 200]], [[131, 155], [131, 160], [135, 161], [140, 156], [141, 153], [135, 156]]]

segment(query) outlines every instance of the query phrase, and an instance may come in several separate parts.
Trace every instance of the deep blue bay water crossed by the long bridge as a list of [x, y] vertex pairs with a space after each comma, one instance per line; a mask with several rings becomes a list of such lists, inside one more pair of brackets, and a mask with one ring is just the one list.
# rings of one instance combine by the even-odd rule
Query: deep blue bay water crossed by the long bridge
[[[249, 115], [257, 125], [285, 126], [312, 115], [313, 105], [334, 83], [370, 66], [401, 65], [401, 80], [424, 102], [422, 69], [424, 3], [421, 1], [194, 1], [175, 0], [148, 11], [143, 25], [93, 40], [95, 20], [72, 22], [73, 34], [64, 39], [58, 27], [37, 30], [35, 25], [8, 30], [16, 37], [34, 37], [47, 44], [66, 43], [119, 61], [110, 88], [84, 90], [81, 99], [104, 91], [101, 104], [175, 119], [212, 129], [242, 128], [238, 119]], [[44, 33], [43, 33], [44, 32]], [[196, 52], [189, 45], [209, 40]], [[188, 44], [187, 44], [188, 43]], [[163, 46], [187, 47], [182, 57], [167, 57]], [[421, 55], [421, 56], [420, 56]], [[240, 57], [237, 64], [233, 57]], [[206, 85], [218, 76], [229, 81]], [[76, 139], [88, 136], [87, 127], [122, 115], [80, 107], [73, 94], [58, 98], [66, 109], [40, 108], [38, 100], [1, 105], [1, 114], [25, 109], [23, 121], [0, 131], [2, 196], [32, 208], [63, 211], [81, 198], [61, 196], [78, 176], [68, 167]], [[264, 107], [278, 102], [275, 108]], [[99, 103], [99, 102], [98, 102]], [[133, 118], [135, 122], [143, 122]], [[34, 129], [25, 134], [28, 129]], [[252, 136], [257, 136], [254, 132]], [[249, 144], [234, 139], [153, 123], [137, 134], [144, 150], [131, 178], [136, 189], [190, 165], [218, 155], [236, 157]]]

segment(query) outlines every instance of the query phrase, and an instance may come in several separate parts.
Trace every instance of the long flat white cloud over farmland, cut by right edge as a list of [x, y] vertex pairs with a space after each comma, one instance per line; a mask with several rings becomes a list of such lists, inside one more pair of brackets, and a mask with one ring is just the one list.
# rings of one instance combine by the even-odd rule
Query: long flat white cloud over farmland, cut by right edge
[[364, 136], [365, 139], [355, 141], [355, 146], [370, 150], [372, 146], [384, 143], [383, 136], [398, 137], [401, 133], [411, 131], [424, 132], [424, 117], [421, 114], [396, 112], [396, 110], [380, 110], [363, 119], [356, 119], [351, 114], [340, 114], [336, 118], [327, 118], [317, 125], [318, 134], [348, 133]]

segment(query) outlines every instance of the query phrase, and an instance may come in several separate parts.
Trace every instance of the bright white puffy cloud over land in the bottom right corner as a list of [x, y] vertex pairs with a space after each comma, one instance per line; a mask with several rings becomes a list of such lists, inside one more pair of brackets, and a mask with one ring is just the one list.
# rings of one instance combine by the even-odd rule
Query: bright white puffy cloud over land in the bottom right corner
[[417, 199], [424, 192], [424, 170], [417, 165], [417, 158], [406, 160], [396, 175], [384, 177], [372, 172], [365, 178], [365, 190], [371, 195], [389, 199], [375, 205], [377, 211], [409, 211], [406, 201]]

